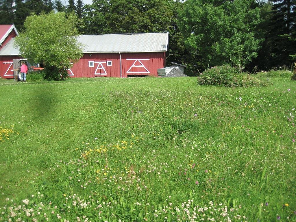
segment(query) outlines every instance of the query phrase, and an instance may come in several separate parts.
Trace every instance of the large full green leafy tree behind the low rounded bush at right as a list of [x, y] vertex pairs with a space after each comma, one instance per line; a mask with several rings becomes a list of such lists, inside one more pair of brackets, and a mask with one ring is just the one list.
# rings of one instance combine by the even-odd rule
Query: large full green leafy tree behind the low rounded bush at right
[[179, 13], [179, 26], [188, 49], [195, 50], [204, 66], [225, 62], [239, 67], [258, 55], [263, 38], [255, 30], [261, 24], [255, 0], [187, 0]]

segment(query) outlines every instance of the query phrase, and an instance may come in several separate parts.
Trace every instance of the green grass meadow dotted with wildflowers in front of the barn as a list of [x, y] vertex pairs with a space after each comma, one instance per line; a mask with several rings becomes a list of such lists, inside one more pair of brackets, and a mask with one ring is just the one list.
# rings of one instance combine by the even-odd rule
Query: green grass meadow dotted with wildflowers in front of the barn
[[296, 86], [268, 81], [0, 79], [0, 221], [296, 221]]

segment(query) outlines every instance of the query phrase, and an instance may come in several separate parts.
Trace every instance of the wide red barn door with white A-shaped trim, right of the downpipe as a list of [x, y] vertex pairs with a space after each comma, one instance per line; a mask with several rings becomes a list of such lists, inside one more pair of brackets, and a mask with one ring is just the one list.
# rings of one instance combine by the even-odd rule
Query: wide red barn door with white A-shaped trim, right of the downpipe
[[148, 75], [149, 71], [148, 57], [129, 57], [126, 59], [128, 75]]

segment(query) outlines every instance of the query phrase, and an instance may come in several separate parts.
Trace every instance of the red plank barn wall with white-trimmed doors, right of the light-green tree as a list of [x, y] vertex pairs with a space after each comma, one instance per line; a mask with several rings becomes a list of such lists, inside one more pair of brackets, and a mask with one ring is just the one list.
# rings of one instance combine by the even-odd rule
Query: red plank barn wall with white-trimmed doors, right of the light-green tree
[[[107, 61], [112, 65], [107, 66]], [[89, 67], [89, 62], [94, 62]], [[157, 76], [157, 69], [165, 66], [164, 52], [121, 53], [122, 77], [128, 75]], [[68, 70], [71, 77], [120, 77], [119, 53], [86, 53]]]

